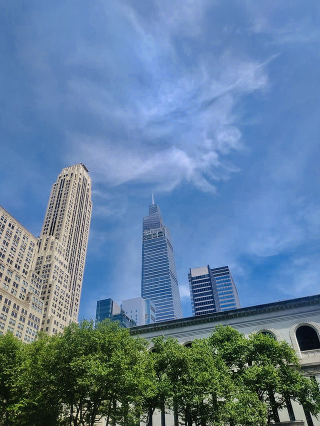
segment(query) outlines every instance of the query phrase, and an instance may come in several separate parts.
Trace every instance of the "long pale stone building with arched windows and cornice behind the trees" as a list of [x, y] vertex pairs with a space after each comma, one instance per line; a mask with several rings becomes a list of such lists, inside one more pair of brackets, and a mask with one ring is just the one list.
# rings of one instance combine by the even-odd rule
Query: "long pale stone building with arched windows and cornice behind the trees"
[[[147, 340], [171, 336], [186, 345], [208, 337], [218, 324], [228, 324], [246, 336], [268, 332], [278, 341], [285, 340], [296, 351], [302, 372], [320, 382], [320, 295], [148, 324], [131, 328], [131, 333]], [[279, 412], [281, 422], [302, 420], [305, 426], [320, 426], [320, 421], [298, 403], [291, 403], [292, 410]], [[168, 426], [173, 424], [169, 413], [166, 420]], [[154, 415], [153, 426], [160, 426], [160, 415]]]

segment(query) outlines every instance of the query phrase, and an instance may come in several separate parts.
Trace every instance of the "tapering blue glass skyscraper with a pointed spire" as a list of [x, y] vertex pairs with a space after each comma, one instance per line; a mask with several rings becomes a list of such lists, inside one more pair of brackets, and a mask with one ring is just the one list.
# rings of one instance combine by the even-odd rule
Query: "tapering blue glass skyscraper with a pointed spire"
[[141, 297], [154, 303], [156, 322], [182, 317], [171, 235], [153, 195], [142, 223]]

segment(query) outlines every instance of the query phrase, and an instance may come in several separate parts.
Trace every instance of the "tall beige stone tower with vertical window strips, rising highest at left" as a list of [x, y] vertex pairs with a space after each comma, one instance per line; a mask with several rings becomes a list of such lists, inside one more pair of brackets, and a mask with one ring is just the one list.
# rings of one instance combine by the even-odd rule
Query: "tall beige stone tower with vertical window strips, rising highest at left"
[[41, 330], [48, 334], [77, 320], [91, 209], [85, 165], [63, 168], [51, 189], [35, 265], [42, 277]]

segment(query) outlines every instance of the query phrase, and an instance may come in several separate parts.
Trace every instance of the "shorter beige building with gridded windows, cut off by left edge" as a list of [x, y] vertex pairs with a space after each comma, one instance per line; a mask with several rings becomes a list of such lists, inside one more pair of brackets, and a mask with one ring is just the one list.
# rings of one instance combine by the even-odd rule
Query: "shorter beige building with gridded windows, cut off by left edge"
[[41, 277], [32, 269], [37, 239], [0, 206], [0, 334], [24, 342], [39, 330], [44, 302]]

